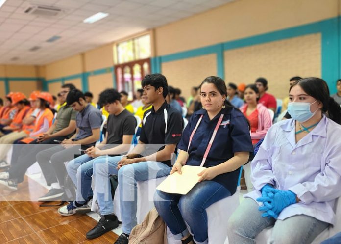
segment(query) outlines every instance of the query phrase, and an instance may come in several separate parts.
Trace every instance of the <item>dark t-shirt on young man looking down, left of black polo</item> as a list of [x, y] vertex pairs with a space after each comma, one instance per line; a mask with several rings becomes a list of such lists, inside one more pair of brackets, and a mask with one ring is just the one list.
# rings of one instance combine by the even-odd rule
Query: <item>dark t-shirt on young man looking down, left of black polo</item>
[[123, 135], [134, 135], [136, 119], [132, 113], [124, 109], [119, 115], [111, 114], [107, 122], [107, 144], [122, 144]]

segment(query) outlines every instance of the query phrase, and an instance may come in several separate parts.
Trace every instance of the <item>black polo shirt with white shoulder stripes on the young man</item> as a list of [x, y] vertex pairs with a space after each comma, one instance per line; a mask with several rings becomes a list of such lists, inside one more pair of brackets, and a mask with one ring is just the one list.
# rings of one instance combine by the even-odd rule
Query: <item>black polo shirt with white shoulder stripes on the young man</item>
[[[165, 101], [157, 111], [154, 110], [153, 106], [145, 112], [140, 141], [145, 144], [177, 144], [181, 139], [183, 124], [181, 113]], [[144, 152], [144, 156], [163, 148], [164, 146], [150, 152], [147, 150]], [[162, 163], [171, 166], [170, 160]]]

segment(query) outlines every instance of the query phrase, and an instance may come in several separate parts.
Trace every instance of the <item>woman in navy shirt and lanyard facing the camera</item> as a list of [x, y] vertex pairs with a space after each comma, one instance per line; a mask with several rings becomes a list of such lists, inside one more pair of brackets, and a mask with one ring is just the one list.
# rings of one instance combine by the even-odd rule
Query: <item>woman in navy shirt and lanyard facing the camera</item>
[[207, 214], [211, 204], [236, 192], [240, 167], [247, 162], [252, 143], [243, 113], [226, 101], [225, 82], [215, 76], [200, 85], [204, 109], [195, 112], [184, 130], [177, 160], [170, 174], [181, 173], [183, 165], [204, 166], [198, 184], [187, 195], [157, 191], [155, 207], [175, 239], [208, 243]]

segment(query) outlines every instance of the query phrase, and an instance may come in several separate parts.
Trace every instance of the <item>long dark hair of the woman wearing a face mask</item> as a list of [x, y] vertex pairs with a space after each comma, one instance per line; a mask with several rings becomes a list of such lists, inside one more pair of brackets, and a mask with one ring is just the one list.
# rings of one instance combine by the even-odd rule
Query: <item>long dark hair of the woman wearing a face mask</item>
[[330, 97], [328, 85], [326, 81], [310, 77], [292, 83], [290, 90], [295, 85], [299, 85], [309, 96], [315, 98], [322, 103], [322, 112], [331, 120], [341, 124], [341, 108], [340, 105]]

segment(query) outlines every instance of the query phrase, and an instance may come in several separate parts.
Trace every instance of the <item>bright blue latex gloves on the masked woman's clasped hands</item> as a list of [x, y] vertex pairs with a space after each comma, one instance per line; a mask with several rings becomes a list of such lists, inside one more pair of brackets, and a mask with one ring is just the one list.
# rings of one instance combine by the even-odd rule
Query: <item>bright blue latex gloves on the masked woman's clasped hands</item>
[[258, 200], [264, 203], [263, 207], [260, 207], [260, 211], [266, 211], [262, 217], [274, 217], [277, 218], [282, 210], [289, 205], [296, 203], [296, 194], [291, 190], [273, 190], [273, 197], [261, 197]]

